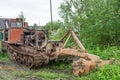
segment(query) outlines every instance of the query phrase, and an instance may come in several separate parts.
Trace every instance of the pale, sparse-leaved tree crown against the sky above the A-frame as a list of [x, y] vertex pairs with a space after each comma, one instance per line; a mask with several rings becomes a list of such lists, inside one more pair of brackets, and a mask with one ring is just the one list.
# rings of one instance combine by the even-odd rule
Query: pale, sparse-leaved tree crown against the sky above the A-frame
[[85, 17], [85, 10], [82, 4], [83, 0], [64, 0], [60, 5], [59, 14], [64, 20], [67, 29], [80, 31], [81, 18]]

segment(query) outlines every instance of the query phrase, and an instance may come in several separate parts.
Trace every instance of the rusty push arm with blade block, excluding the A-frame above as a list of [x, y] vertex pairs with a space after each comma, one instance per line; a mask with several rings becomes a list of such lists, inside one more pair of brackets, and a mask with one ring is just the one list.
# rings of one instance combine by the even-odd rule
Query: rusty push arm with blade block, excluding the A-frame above
[[75, 49], [58, 49], [59, 55], [71, 55], [77, 57], [76, 60], [73, 61], [73, 74], [78, 76], [81, 74], [88, 74], [90, 71], [94, 70], [96, 67], [102, 67], [106, 64], [112, 64], [115, 59], [111, 60], [102, 60], [99, 56], [82, 53]]

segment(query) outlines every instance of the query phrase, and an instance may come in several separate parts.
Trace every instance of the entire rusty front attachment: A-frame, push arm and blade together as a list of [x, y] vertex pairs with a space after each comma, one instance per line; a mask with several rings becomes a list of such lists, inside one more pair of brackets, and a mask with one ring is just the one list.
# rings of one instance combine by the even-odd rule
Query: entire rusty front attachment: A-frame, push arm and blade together
[[[61, 40], [64, 40], [66, 36], [68, 36], [68, 38], [66, 39], [64, 46], [62, 48], [57, 49], [57, 53], [58, 55], [71, 55], [74, 57], [79, 57], [79, 59], [73, 61], [72, 63], [74, 75], [78, 76], [81, 74], [88, 74], [90, 71], [94, 70], [96, 66], [102, 67], [106, 64], [112, 64], [115, 61], [115, 59], [102, 60], [97, 55], [87, 53], [86, 49], [84, 48], [74, 31], [69, 30]], [[67, 44], [70, 36], [74, 39], [74, 42], [79, 46], [79, 50], [65, 48], [65, 45]]]

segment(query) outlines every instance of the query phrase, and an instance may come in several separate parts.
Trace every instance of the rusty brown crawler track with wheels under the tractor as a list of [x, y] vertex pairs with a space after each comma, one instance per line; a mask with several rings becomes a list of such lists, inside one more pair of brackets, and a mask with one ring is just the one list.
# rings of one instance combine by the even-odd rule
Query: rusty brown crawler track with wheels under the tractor
[[30, 49], [29, 51], [26, 51], [25, 49], [21, 48], [21, 46], [10, 45], [8, 52], [11, 60], [19, 64], [25, 65], [29, 68], [40, 66], [42, 64], [45, 64], [47, 61], [49, 61], [47, 59], [47, 56], [44, 54], [44, 52], [33, 51], [34, 52], [33, 53], [30, 51]]

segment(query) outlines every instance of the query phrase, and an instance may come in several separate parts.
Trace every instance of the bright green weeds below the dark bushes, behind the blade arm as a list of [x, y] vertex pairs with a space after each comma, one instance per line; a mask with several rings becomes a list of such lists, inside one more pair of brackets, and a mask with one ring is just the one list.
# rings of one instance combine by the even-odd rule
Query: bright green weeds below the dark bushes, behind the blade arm
[[88, 52], [100, 56], [102, 59], [115, 58], [120, 60], [120, 50], [117, 47], [105, 47], [104, 49], [96, 46], [95, 48], [89, 47]]

